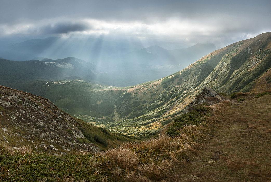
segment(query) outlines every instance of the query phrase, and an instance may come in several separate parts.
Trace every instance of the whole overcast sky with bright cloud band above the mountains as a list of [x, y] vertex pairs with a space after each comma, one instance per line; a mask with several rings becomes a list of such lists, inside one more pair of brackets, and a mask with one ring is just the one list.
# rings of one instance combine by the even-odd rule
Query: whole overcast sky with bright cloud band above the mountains
[[270, 10], [270, 0], [0, 0], [0, 38], [131, 37], [223, 47], [270, 32]]

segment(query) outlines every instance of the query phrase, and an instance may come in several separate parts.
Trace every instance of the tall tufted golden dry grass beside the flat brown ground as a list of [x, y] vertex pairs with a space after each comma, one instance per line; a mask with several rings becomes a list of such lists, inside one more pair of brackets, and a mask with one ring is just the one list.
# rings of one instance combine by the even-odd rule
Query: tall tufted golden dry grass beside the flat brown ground
[[171, 138], [162, 132], [158, 138], [124, 143], [102, 156], [115, 181], [160, 181], [196, 152], [200, 145], [195, 141], [209, 138], [209, 130], [206, 123], [189, 125], [179, 136]]

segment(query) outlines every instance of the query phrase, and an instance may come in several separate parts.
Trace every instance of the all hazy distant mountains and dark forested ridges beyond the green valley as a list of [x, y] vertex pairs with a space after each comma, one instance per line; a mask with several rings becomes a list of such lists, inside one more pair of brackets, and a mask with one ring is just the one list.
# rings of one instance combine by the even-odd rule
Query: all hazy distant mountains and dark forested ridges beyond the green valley
[[[141, 47], [137, 42], [108, 42], [93, 38], [31, 39], [14, 44], [8, 50], [0, 50], [1, 57], [5, 58], [0, 62], [0, 74], [5, 82], [0, 83], [7, 84], [22, 79], [83, 79], [105, 85], [131, 86], [182, 70], [215, 49], [213, 44], [196, 44], [174, 50], [158, 45], [143, 49]], [[69, 57], [52, 59], [61, 56]], [[83, 61], [82, 58], [88, 61]], [[22, 63], [7, 59], [20, 60]], [[71, 62], [67, 62], [68, 60]]]

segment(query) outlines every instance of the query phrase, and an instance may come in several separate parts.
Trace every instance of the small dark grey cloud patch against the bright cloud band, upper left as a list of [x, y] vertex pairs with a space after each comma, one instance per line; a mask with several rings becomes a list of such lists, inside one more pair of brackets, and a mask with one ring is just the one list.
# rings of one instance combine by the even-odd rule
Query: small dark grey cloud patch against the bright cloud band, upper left
[[70, 32], [85, 31], [91, 29], [86, 23], [58, 22], [40, 27], [40, 32], [44, 34], [62, 34]]

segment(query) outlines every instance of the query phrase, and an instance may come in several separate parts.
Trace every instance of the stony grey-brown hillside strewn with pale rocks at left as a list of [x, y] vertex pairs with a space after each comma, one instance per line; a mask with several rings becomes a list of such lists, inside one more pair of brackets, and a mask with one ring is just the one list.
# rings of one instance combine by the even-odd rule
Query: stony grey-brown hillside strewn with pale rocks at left
[[16, 148], [29, 144], [49, 153], [99, 151], [92, 143], [79, 143], [85, 139], [79, 120], [40, 96], [0, 86], [0, 111], [2, 141]]

